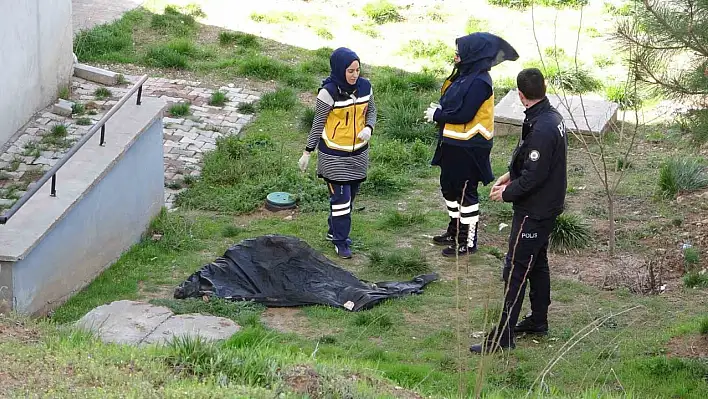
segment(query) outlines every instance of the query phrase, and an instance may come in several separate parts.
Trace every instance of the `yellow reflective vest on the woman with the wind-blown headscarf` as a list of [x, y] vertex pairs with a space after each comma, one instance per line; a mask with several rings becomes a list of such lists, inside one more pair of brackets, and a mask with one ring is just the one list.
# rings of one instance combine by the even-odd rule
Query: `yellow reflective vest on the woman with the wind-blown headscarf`
[[[488, 76], [488, 75], [487, 75]], [[485, 79], [479, 76], [483, 81], [491, 86], [491, 78]], [[488, 81], [489, 80], [489, 81]], [[452, 81], [446, 79], [443, 83], [440, 94], [445, 94]], [[479, 145], [481, 147], [491, 147], [492, 139], [494, 138], [494, 92], [482, 103], [482, 106], [477, 110], [475, 117], [463, 124], [446, 123], [442, 131], [443, 141], [457, 145]], [[466, 142], [466, 143], [461, 143]]]

